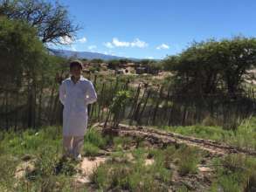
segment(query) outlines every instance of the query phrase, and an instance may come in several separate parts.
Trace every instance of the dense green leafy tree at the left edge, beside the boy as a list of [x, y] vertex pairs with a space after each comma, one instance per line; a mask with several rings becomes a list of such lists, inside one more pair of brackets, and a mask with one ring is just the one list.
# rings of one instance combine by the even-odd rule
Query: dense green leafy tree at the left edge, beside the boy
[[[10, 109], [15, 112], [22, 106], [23, 124], [36, 127], [38, 122], [40, 125], [46, 87], [52, 89], [51, 103], [54, 107], [51, 117], [56, 117], [54, 112], [58, 99], [53, 102], [53, 92], [63, 73], [59, 64], [65, 61], [47, 53], [36, 29], [20, 20], [0, 17], [0, 60], [0, 90], [6, 100], [0, 112], [6, 113]], [[61, 73], [57, 75], [56, 72]], [[17, 116], [15, 120], [17, 125]]]

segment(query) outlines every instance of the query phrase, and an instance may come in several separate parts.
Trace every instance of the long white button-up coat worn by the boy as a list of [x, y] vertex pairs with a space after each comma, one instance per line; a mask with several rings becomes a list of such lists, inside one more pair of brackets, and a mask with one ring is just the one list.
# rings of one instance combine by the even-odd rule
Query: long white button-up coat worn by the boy
[[67, 78], [59, 86], [59, 100], [64, 105], [63, 134], [84, 135], [88, 120], [87, 105], [97, 100], [93, 83], [82, 75], [76, 83]]

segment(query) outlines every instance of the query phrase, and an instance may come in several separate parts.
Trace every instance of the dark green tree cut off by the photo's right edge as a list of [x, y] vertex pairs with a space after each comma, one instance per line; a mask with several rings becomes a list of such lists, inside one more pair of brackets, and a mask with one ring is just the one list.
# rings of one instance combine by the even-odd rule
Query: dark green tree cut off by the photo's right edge
[[233, 38], [219, 44], [222, 78], [228, 93], [235, 93], [247, 70], [256, 65], [256, 38]]

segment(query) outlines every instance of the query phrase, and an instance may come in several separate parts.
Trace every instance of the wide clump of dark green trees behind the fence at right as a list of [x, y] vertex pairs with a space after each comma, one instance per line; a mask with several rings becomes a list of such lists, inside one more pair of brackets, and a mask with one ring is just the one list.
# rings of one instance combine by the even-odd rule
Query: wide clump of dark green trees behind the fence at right
[[226, 92], [236, 93], [246, 71], [256, 64], [255, 57], [255, 38], [211, 39], [193, 43], [165, 59], [163, 66], [176, 73], [179, 92], [216, 93], [224, 85]]

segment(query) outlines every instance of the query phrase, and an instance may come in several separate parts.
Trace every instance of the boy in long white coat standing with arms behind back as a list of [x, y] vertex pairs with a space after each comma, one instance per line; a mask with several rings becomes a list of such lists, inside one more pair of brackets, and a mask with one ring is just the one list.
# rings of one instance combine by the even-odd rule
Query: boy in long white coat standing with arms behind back
[[79, 60], [70, 63], [71, 77], [59, 86], [59, 100], [63, 110], [63, 157], [81, 160], [87, 127], [87, 105], [97, 100], [97, 94], [90, 80], [81, 75], [83, 66]]

